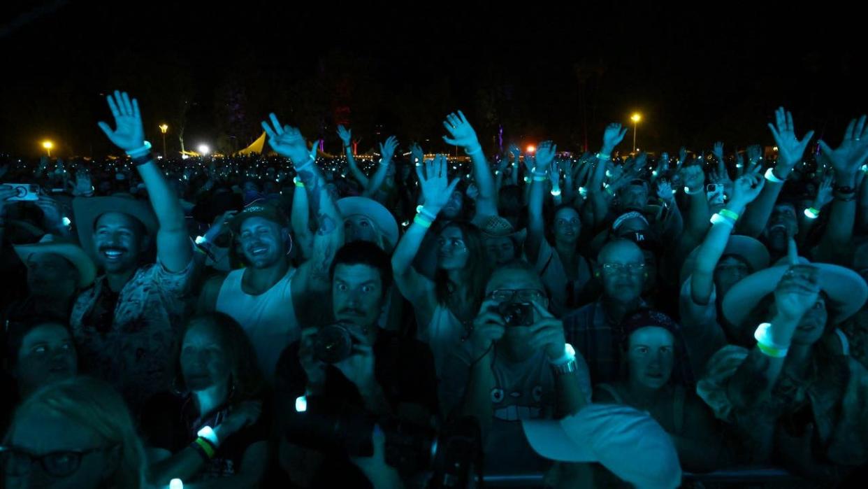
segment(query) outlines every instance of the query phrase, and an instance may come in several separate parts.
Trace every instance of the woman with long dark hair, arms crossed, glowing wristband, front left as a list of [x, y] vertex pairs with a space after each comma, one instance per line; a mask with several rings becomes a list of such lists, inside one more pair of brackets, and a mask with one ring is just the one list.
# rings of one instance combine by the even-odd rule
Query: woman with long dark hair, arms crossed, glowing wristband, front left
[[247, 334], [226, 314], [189, 320], [174, 355], [174, 393], [142, 414], [150, 482], [222, 479], [257, 486], [269, 459], [264, 380]]

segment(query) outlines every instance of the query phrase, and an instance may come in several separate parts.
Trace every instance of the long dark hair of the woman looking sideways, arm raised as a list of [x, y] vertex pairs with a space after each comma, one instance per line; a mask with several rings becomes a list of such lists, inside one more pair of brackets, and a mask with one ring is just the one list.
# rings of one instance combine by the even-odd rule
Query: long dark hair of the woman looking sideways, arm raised
[[[461, 270], [461, 279], [455, 285], [467, 287], [467, 296], [474, 301], [474, 306], [478, 306], [485, 295], [485, 284], [488, 282], [490, 274], [488, 261], [485, 260], [482, 233], [476, 226], [465, 221], [451, 221], [440, 229], [440, 233], [442, 234], [448, 228], [458, 228], [461, 231], [464, 244], [470, 253], [470, 256], [467, 257], [467, 264]], [[450, 287], [452, 287], [445, 270], [437, 268], [437, 272], [434, 274], [434, 287], [437, 302], [444, 304], [449, 298]]]

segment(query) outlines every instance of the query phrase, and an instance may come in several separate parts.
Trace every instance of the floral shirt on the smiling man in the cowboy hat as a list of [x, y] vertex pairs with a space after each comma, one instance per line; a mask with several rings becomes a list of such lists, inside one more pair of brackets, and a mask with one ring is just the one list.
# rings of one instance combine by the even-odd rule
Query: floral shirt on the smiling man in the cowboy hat
[[174, 341], [187, 312], [193, 261], [180, 273], [161, 264], [135, 271], [120, 294], [105, 275], [78, 296], [70, 326], [82, 371], [108, 381], [133, 411], [168, 388]]

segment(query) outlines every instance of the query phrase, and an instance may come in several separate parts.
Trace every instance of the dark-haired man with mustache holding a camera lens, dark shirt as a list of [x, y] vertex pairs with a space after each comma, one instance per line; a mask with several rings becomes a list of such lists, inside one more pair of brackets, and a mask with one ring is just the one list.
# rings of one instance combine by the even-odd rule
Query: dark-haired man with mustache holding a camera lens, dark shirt
[[[375, 425], [431, 425], [439, 411], [433, 355], [377, 325], [392, 280], [385, 251], [347, 243], [331, 275], [336, 322], [302, 330], [278, 362], [275, 394], [287, 439], [281, 465], [299, 486], [399, 486], [403, 474], [387, 463]], [[311, 431], [320, 425], [340, 429]]]

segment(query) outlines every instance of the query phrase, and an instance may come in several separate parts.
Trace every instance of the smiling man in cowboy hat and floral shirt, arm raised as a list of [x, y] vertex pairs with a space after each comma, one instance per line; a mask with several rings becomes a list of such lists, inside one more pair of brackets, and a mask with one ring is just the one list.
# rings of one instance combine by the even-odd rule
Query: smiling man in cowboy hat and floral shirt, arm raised
[[[150, 205], [131, 195], [73, 202], [82, 248], [104, 274], [78, 296], [69, 324], [82, 371], [109, 381], [135, 412], [148, 397], [168, 388], [169, 357], [187, 305], [193, 250], [181, 202], [144, 140], [138, 102], [115, 92], [109, 108], [117, 127], [100, 122], [100, 128], [132, 158]], [[148, 253], [154, 242], [156, 263]]]

